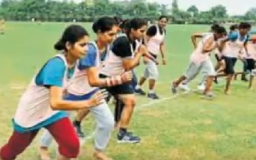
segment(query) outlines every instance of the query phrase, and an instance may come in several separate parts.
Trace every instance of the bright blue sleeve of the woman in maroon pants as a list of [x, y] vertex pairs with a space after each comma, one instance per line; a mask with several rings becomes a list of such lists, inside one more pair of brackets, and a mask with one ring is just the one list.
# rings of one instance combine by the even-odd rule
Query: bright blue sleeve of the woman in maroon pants
[[36, 84], [46, 87], [62, 87], [63, 77], [65, 76], [65, 62], [60, 57], [49, 60], [36, 76]]

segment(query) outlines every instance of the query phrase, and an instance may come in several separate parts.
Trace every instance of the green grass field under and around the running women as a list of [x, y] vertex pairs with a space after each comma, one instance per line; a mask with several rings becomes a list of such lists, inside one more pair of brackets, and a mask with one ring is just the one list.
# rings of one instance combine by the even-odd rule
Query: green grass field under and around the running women
[[[6, 34], [0, 35], [0, 145], [12, 132], [11, 119], [26, 84], [45, 61], [55, 54], [53, 45], [68, 23], [7, 23]], [[89, 31], [90, 24], [82, 24]], [[223, 95], [225, 81], [215, 86], [216, 99], [206, 100], [199, 94], [170, 93], [170, 81], [182, 74], [192, 45], [190, 34], [207, 31], [204, 25], [170, 25], [166, 46], [168, 65], [159, 66], [157, 92], [161, 100], [138, 97], [131, 129], [140, 135], [137, 145], [119, 145], [116, 131], [106, 151], [116, 160], [252, 160], [256, 159], [256, 89], [234, 81], [232, 94]], [[94, 35], [92, 34], [92, 37]], [[240, 62], [238, 62], [240, 63]], [[137, 69], [139, 76], [143, 65]], [[238, 64], [237, 68], [241, 68]], [[191, 87], [196, 86], [196, 80]], [[145, 86], [145, 90], [147, 86]], [[92, 117], [83, 122], [91, 134]], [[38, 159], [38, 136], [19, 160]], [[92, 160], [93, 140], [87, 140], [80, 160]], [[55, 157], [55, 145], [51, 147]]]

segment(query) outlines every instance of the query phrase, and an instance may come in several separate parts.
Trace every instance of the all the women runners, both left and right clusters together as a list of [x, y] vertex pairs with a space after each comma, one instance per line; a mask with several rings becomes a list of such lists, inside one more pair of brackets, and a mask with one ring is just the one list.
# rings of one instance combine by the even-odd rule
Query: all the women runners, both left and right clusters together
[[[161, 16], [157, 24], [148, 26], [146, 20], [134, 18], [102, 17], [92, 26], [97, 38], [90, 40], [87, 30], [80, 25], [70, 25], [54, 48], [58, 54], [50, 58], [36, 73], [22, 95], [13, 118], [13, 134], [1, 147], [0, 159], [13, 160], [30, 145], [39, 130], [44, 128], [39, 146], [40, 158], [49, 160], [52, 140], [58, 145], [58, 160], [76, 158], [79, 138], [84, 137], [81, 122], [91, 113], [97, 123], [94, 135], [93, 156], [102, 160], [111, 158], [104, 153], [111, 131], [115, 126], [119, 143], [139, 143], [141, 138], [129, 126], [136, 106], [135, 93], [146, 95], [142, 85], [148, 79], [147, 97], [159, 99], [156, 94], [159, 53], [162, 65], [167, 56], [164, 47], [168, 17]], [[256, 38], [249, 38], [251, 26], [241, 23], [227, 33], [220, 25], [213, 25], [210, 33], [192, 36], [195, 50], [191, 54], [188, 70], [172, 83], [172, 92], [178, 87], [189, 90], [188, 84], [203, 71], [203, 94], [213, 97], [212, 86], [217, 76], [227, 76], [225, 93], [235, 74], [237, 58], [246, 62], [250, 72], [250, 85], [255, 74]], [[201, 38], [197, 42], [197, 38]], [[214, 67], [210, 55], [217, 52]], [[143, 58], [145, 71], [140, 81], [134, 69]], [[201, 86], [202, 86], [201, 85]], [[115, 99], [114, 116], [108, 106]], [[70, 111], [77, 111], [71, 122]]]

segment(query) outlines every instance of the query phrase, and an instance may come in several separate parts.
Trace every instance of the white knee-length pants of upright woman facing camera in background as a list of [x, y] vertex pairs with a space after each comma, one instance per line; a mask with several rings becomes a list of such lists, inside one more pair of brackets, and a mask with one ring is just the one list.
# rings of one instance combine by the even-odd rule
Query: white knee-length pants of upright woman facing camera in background
[[146, 63], [145, 71], [143, 73], [143, 77], [156, 80], [158, 76], [159, 73], [156, 63], [152, 60], [148, 60], [148, 62]]

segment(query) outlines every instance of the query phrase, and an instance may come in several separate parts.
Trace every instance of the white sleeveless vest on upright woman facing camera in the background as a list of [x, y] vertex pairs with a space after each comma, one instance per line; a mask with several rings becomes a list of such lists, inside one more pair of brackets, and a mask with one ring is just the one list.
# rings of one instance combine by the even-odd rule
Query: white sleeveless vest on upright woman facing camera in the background
[[155, 25], [157, 28], [156, 35], [152, 36], [147, 43], [147, 49], [151, 54], [158, 55], [160, 52], [160, 44], [164, 41], [165, 33], [160, 33], [160, 29], [158, 25]]

